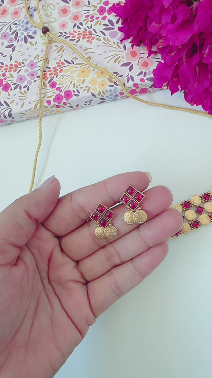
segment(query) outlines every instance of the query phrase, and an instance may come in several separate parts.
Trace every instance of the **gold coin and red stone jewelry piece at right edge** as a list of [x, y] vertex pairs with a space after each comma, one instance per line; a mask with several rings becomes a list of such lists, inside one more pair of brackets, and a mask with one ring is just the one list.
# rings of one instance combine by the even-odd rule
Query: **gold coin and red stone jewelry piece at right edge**
[[209, 224], [212, 222], [212, 189], [200, 196], [192, 196], [191, 199], [180, 204], [175, 203], [172, 207], [182, 213], [184, 221], [189, 221], [183, 222], [181, 229], [173, 237], [178, 237], [180, 233], [189, 233], [193, 229]]

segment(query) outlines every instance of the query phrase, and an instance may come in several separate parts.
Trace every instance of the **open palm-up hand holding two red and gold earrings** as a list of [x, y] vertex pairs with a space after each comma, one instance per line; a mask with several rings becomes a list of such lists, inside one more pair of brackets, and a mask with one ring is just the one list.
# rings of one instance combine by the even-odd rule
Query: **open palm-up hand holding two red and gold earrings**
[[182, 217], [167, 209], [166, 187], [146, 191], [148, 221], [127, 225], [115, 208], [116, 240], [100, 240], [87, 222], [99, 202], [113, 206], [132, 184], [144, 191], [145, 173], [118, 175], [58, 199], [57, 179], [0, 214], [0, 376], [52, 377], [90, 325], [137, 286], [165, 258], [166, 240]]

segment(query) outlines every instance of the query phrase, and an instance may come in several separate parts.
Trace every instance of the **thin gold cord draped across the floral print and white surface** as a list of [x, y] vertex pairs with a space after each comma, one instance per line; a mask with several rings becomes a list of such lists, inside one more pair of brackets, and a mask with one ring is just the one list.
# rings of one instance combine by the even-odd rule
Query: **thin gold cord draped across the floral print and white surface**
[[[28, 11], [28, 8], [27, 8], [27, 5], [26, 5], [26, 0], [23, 0], [23, 4], [24, 4], [26, 16], [28, 17], [28, 19], [32, 23], [32, 25], [36, 28], [42, 29], [43, 26], [44, 26], [44, 22], [43, 22], [41, 13], [40, 13], [39, 0], [36, 0], [36, 5], [37, 5], [37, 11], [38, 11], [38, 16], [39, 16], [39, 20], [40, 20], [41, 25], [38, 25], [30, 17], [30, 14], [29, 14], [29, 11]], [[39, 154], [39, 150], [40, 150], [41, 143], [42, 143], [42, 115], [43, 115], [43, 112], [42, 112], [42, 82], [43, 82], [43, 72], [44, 72], [45, 62], [46, 62], [47, 53], [48, 53], [49, 37], [51, 37], [53, 40], [57, 40], [58, 42], [61, 42], [62, 44], [65, 44], [69, 49], [74, 51], [85, 63], [87, 63], [91, 67], [98, 69], [98, 70], [104, 72], [105, 74], [107, 74], [111, 79], [116, 81], [120, 85], [120, 87], [123, 89], [123, 92], [133, 100], [139, 101], [139, 102], [141, 102], [142, 104], [145, 104], [145, 105], [157, 106], [157, 107], [162, 107], [162, 108], [171, 109], [171, 110], [180, 110], [180, 111], [184, 111], [184, 112], [187, 112], [187, 113], [199, 114], [199, 115], [204, 115], [206, 117], [212, 118], [212, 114], [208, 114], [206, 112], [187, 109], [187, 108], [178, 107], [178, 106], [172, 106], [172, 105], [166, 105], [166, 104], [160, 104], [160, 103], [153, 103], [153, 102], [142, 100], [137, 96], [131, 95], [131, 93], [128, 92], [128, 90], [125, 88], [124, 84], [121, 82], [121, 80], [119, 78], [117, 78], [114, 74], [109, 72], [106, 68], [102, 68], [99, 65], [90, 62], [80, 51], [78, 51], [75, 48], [75, 46], [73, 46], [72, 44], [68, 43], [67, 41], [51, 34], [50, 32], [47, 32], [45, 34], [45, 37], [46, 37], [45, 51], [44, 51], [44, 55], [43, 55], [43, 59], [42, 59], [41, 73], [40, 73], [40, 80], [39, 80], [39, 141], [38, 141], [38, 147], [37, 147], [37, 150], [36, 150], [34, 164], [33, 164], [33, 173], [32, 173], [32, 180], [31, 180], [29, 193], [31, 193], [32, 189], [33, 189], [33, 185], [34, 185], [34, 181], [35, 181], [35, 172], [36, 172], [36, 167], [37, 167], [37, 159], [38, 159], [38, 154]]]

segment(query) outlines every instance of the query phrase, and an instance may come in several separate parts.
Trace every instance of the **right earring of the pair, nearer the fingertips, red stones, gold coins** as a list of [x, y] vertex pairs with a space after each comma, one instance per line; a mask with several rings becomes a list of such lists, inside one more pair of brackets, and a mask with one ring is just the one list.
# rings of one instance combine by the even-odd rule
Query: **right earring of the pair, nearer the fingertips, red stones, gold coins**
[[120, 201], [127, 207], [124, 214], [124, 222], [127, 224], [142, 224], [147, 220], [147, 214], [141, 209], [140, 203], [145, 198], [145, 195], [139, 192], [134, 186], [129, 185], [125, 190]]

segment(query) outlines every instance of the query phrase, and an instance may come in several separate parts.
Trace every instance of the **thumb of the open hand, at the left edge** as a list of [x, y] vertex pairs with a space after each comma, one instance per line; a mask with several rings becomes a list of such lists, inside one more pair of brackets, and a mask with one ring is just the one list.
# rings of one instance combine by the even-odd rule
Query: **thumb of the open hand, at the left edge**
[[32, 237], [57, 204], [60, 183], [50, 177], [30, 194], [20, 197], [0, 213], [0, 267], [14, 262], [20, 248]]

